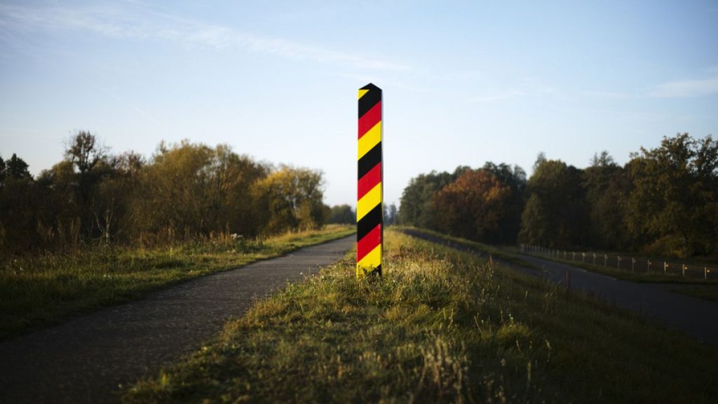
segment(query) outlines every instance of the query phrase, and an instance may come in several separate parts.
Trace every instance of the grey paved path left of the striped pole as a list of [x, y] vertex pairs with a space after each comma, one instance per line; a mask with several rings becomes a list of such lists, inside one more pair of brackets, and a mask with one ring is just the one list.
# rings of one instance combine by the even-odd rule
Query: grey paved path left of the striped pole
[[174, 285], [0, 342], [0, 403], [112, 403], [118, 385], [195, 352], [256, 298], [340, 260], [355, 235]]

